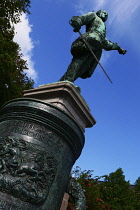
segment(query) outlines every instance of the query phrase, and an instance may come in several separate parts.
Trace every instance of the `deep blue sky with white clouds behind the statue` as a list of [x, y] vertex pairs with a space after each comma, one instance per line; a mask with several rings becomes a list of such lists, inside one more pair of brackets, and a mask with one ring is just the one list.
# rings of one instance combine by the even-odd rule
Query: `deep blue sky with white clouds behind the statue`
[[[68, 21], [74, 15], [104, 9], [107, 38], [128, 50], [126, 55], [104, 51], [91, 78], [78, 79], [81, 94], [97, 123], [86, 129], [86, 143], [76, 165], [93, 176], [121, 167], [133, 184], [140, 176], [140, 2], [138, 0], [36, 0], [31, 15], [15, 26], [17, 41], [28, 61], [35, 87], [56, 82], [71, 62], [71, 43], [78, 37]], [[84, 32], [84, 27], [81, 29]]]

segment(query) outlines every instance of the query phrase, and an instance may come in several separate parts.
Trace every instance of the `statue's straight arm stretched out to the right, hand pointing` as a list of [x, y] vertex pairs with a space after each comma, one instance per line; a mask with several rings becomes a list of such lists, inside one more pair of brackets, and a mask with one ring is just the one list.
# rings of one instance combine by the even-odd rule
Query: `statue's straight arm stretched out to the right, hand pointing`
[[122, 49], [117, 43], [113, 43], [107, 39], [102, 42], [102, 48], [104, 50], [118, 50], [120, 54], [126, 54], [127, 50]]

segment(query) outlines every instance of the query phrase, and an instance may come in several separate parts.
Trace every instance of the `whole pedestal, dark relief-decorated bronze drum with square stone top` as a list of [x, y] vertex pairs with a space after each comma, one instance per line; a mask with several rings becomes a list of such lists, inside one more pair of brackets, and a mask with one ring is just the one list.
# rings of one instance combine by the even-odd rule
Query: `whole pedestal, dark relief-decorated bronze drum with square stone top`
[[94, 123], [71, 83], [8, 102], [0, 110], [0, 208], [59, 210], [84, 129]]

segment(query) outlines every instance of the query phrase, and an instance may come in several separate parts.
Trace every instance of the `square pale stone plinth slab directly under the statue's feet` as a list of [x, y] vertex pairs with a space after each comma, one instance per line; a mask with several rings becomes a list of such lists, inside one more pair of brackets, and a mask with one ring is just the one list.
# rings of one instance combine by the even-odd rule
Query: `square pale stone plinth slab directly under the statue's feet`
[[86, 101], [71, 82], [56, 82], [26, 90], [24, 97], [36, 98], [57, 106], [74, 118], [82, 129], [96, 123]]

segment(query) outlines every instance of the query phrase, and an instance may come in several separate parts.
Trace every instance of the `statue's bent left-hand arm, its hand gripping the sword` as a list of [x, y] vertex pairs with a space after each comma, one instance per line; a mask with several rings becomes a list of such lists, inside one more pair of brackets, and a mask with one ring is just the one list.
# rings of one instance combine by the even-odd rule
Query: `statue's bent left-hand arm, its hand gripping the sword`
[[81, 16], [73, 16], [69, 21], [70, 25], [74, 28], [74, 32], [78, 32], [83, 25], [91, 23], [96, 17], [94, 12], [89, 12]]

